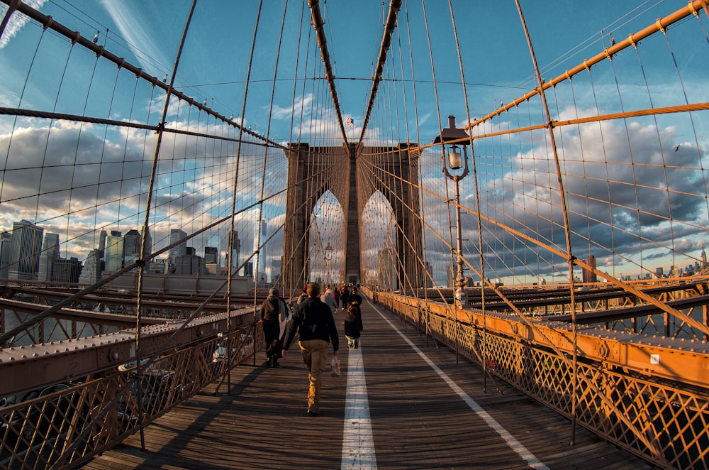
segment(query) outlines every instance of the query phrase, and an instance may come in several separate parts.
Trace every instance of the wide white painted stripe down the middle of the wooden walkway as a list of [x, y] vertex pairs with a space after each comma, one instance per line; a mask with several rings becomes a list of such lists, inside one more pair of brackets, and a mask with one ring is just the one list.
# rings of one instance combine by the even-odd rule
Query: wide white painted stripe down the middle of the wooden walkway
[[372, 420], [369, 419], [367, 381], [364, 380], [361, 343], [350, 348], [347, 360], [345, 432], [342, 435], [342, 469], [376, 469]]

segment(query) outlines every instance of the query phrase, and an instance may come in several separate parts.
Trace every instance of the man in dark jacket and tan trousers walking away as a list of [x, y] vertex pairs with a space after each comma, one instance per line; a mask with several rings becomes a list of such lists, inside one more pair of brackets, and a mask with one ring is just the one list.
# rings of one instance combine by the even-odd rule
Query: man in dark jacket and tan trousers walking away
[[281, 355], [288, 357], [288, 348], [300, 335], [298, 345], [303, 353], [303, 362], [308, 366], [308, 415], [320, 415], [320, 388], [323, 371], [328, 361], [328, 343], [333, 343], [333, 355], [338, 356], [340, 338], [337, 337], [337, 327], [333, 312], [328, 305], [320, 300], [320, 285], [310, 283], [307, 287], [308, 299], [296, 307], [291, 324], [286, 331]]

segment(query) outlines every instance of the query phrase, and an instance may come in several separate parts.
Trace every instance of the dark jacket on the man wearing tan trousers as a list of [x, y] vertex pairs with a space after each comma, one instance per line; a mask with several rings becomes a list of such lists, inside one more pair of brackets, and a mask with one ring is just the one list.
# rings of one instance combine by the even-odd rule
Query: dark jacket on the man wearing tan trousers
[[296, 337], [296, 332], [300, 335], [301, 341], [324, 339], [328, 343], [333, 343], [335, 351], [340, 349], [340, 338], [337, 337], [333, 312], [319, 298], [308, 297], [304, 302], [296, 305], [296, 312], [283, 340], [283, 349], [288, 349]]

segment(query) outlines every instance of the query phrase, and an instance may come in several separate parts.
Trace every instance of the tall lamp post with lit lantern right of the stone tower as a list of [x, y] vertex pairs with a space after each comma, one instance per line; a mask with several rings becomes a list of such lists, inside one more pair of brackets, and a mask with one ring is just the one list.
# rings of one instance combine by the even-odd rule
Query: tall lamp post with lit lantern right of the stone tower
[[[461, 139], [464, 139], [461, 141]], [[462, 129], [456, 129], [455, 127], [455, 116], [448, 116], [448, 127], [441, 131], [440, 136], [436, 136], [433, 139], [433, 143], [441, 144], [441, 158], [443, 163], [443, 173], [446, 177], [454, 182], [455, 186], [455, 234], [457, 238], [456, 244], [456, 255], [457, 255], [457, 275], [456, 275], [456, 285], [457, 293], [460, 295], [461, 305], [465, 304], [465, 278], [463, 277], [463, 239], [460, 229], [460, 193], [459, 193], [459, 182], [464, 177], [467, 176], [470, 169], [468, 168], [468, 151], [467, 146], [470, 136], [468, 133]], [[446, 146], [449, 145], [447, 142], [451, 142], [448, 148], [448, 158], [446, 162]], [[463, 149], [463, 154], [461, 155], [458, 151], [459, 146]], [[459, 175], [453, 174], [450, 170], [460, 170], [463, 172]]]

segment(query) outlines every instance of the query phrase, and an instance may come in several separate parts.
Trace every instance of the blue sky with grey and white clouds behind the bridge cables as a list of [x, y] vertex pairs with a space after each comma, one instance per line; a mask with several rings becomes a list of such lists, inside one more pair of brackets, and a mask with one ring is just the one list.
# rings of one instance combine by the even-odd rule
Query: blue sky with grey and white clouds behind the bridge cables
[[[168, 82], [191, 7], [189, 1], [168, 0], [26, 3]], [[686, 1], [520, 4], [542, 77], [550, 80], [683, 8]], [[341, 145], [306, 2], [266, 1], [260, 11], [258, 6], [257, 1], [198, 2], [174, 87], [273, 143]], [[535, 87], [530, 50], [513, 1], [452, 1], [452, 6], [455, 30], [447, 2], [403, 1], [365, 143], [428, 144], [447, 126], [449, 114], [462, 126], [468, 116], [486, 116]], [[374, 0], [330, 1], [320, 9], [340, 111], [354, 121], [354, 129], [345, 126], [347, 139], [356, 140], [367, 114], [386, 11]], [[0, 6], [0, 13], [5, 10]], [[709, 102], [706, 23], [703, 14], [683, 20], [666, 35], [644, 40], [637, 49], [624, 50], [612, 62], [549, 90], [552, 119]], [[456, 40], [467, 96], [462, 93]], [[90, 50], [19, 14], [0, 36], [0, 70], [0, 106], [6, 108], [151, 126], [162, 117], [165, 95], [160, 87], [108, 60], [97, 60]], [[599, 267], [613, 275], [685, 266], [698, 258], [708, 219], [703, 170], [708, 144], [701, 131], [709, 127], [706, 112], [557, 128], [577, 257], [594, 254]], [[473, 133], [543, 122], [541, 103], [532, 99]], [[269, 236], [282, 226], [285, 204], [279, 191], [286, 184], [287, 163], [282, 148], [264, 148], [258, 138], [240, 145], [238, 128], [176, 99], [169, 103], [165, 124], [192, 135], [165, 133], [162, 141], [150, 218], [157, 248], [167, 244], [170, 229], [191, 233], [228, 217], [233, 187], [240, 192], [235, 229], [241, 234], [242, 253], [252, 251], [257, 220], [267, 220]], [[219, 138], [201, 137], [207, 134]], [[98, 122], [0, 116], [0, 227], [11, 229], [19, 219], [37, 222], [45, 231], [60, 234], [62, 256], [83, 259], [96, 246], [97, 230], [125, 233], [142, 226], [156, 138], [150, 130]], [[489, 277], [530, 282], [537, 276], [565, 275], [559, 268], [563, 260], [509, 231], [566, 251], [548, 132], [481, 138], [474, 151], [481, 213], [504, 225], [482, 227]], [[236, 165], [240, 171], [234, 182]], [[421, 178], [423, 186], [437, 194], [424, 197], [424, 217], [450, 244], [445, 201], [452, 197], [446, 195], [452, 186], [446, 189], [442, 178], [440, 149], [423, 153]], [[467, 209], [462, 227], [464, 251], [471, 258], [479, 240], [470, 214], [476, 211], [475, 194], [474, 180], [467, 177], [461, 182], [461, 203]], [[252, 205], [262, 198], [265, 204]], [[388, 210], [379, 213], [386, 220], [382, 223], [388, 223]], [[220, 224], [191, 245], [198, 254], [204, 246], [223, 248], [229, 228]], [[269, 241], [271, 258], [281, 255], [281, 237], [276, 233]], [[425, 239], [442, 282], [450, 247], [436, 236]], [[365, 249], [371, 253], [376, 246]]]

